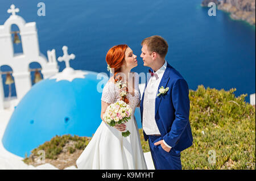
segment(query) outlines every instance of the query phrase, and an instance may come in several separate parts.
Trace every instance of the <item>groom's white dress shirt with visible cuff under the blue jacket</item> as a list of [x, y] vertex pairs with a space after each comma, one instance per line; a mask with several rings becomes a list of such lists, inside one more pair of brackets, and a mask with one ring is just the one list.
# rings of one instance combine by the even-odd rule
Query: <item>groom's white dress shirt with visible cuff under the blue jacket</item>
[[[166, 70], [167, 61], [164, 62], [164, 65], [154, 72], [157, 76], [151, 76], [148, 79], [147, 87], [144, 92], [144, 100], [143, 100], [143, 130], [147, 135], [150, 134], [160, 134], [158, 126], [156, 125], [155, 121], [155, 99], [158, 92], [158, 87], [160, 81], [163, 77], [164, 71]], [[163, 143], [168, 147], [171, 146], [167, 145], [166, 142], [163, 140]]]

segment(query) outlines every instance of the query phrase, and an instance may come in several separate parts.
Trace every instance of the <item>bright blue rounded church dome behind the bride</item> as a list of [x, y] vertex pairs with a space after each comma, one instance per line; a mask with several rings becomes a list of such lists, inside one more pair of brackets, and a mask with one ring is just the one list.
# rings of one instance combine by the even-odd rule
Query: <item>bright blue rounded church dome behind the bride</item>
[[[92, 136], [101, 123], [101, 94], [108, 76], [80, 71], [84, 78], [58, 80], [50, 77], [36, 83], [20, 100], [2, 138], [6, 150], [24, 157], [56, 135]], [[61, 73], [59, 73], [61, 74]], [[99, 87], [99, 85], [101, 85]], [[135, 111], [141, 128], [139, 110]]]

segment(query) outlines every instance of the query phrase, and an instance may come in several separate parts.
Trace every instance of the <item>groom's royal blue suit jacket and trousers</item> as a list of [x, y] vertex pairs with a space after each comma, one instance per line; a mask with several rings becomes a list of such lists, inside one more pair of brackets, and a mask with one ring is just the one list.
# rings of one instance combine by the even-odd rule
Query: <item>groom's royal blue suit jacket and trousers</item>
[[[155, 169], [181, 169], [180, 151], [189, 148], [193, 142], [189, 124], [188, 85], [180, 73], [167, 63], [158, 90], [161, 86], [169, 87], [166, 94], [161, 94], [155, 99], [155, 121], [161, 136], [148, 136], [143, 131], [144, 139], [148, 140], [150, 145]], [[142, 120], [143, 100], [144, 92], [141, 100]], [[172, 147], [170, 152], [163, 150], [161, 145], [154, 145], [160, 140]]]

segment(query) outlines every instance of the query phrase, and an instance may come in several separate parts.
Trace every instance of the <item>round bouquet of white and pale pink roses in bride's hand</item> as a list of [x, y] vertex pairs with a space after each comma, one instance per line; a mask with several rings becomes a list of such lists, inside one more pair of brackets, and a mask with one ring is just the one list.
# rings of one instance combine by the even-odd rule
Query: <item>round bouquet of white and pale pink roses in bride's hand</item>
[[[113, 104], [110, 104], [103, 115], [103, 119], [110, 125], [114, 127], [117, 124], [126, 123], [131, 119], [131, 108], [128, 104], [119, 100]], [[130, 135], [130, 132], [122, 132], [123, 137]]]

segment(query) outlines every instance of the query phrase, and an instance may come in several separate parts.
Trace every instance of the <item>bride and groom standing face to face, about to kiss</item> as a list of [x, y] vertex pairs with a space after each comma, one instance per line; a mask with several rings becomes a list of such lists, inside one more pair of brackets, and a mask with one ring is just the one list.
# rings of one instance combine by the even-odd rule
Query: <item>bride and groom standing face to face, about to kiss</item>
[[[165, 60], [168, 44], [160, 36], [142, 41], [141, 58], [150, 75], [141, 100], [139, 75], [131, 73], [138, 65], [137, 56], [127, 45], [112, 47], [106, 62], [114, 76], [106, 83], [101, 98], [102, 123], [92, 140], [77, 159], [78, 169], [147, 169], [137, 122], [136, 107], [141, 107], [144, 139], [150, 146], [155, 169], [181, 169], [180, 151], [192, 145], [189, 124], [188, 85], [177, 70]], [[119, 77], [118, 73], [125, 76]], [[126, 78], [123, 78], [126, 77]], [[134, 77], [134, 81], [130, 81]], [[123, 79], [122, 79], [123, 78]], [[132, 108], [126, 124], [110, 127], [102, 118], [106, 108], [121, 99], [117, 81], [126, 83], [127, 94], [122, 98]], [[163, 89], [160, 89], [163, 86]], [[122, 137], [129, 130], [130, 136]]]

